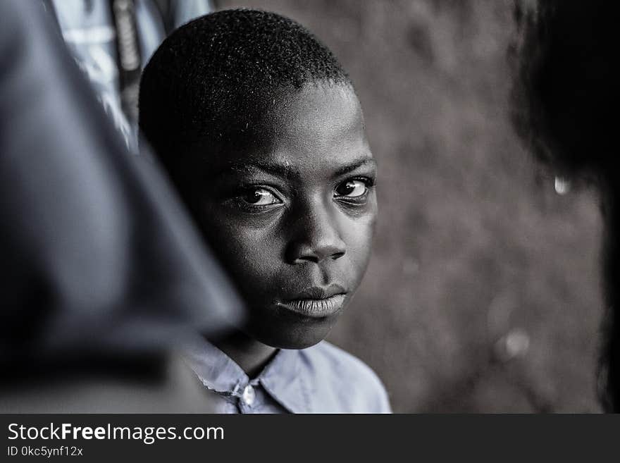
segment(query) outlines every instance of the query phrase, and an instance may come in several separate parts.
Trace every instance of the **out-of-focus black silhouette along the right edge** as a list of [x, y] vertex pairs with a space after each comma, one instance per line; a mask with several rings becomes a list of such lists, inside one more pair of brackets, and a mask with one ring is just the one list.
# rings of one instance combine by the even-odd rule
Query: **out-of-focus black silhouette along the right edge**
[[[593, 182], [605, 220], [605, 297], [600, 397], [620, 411], [620, 168], [618, 15], [615, 1], [516, 0], [512, 120], [554, 173]], [[616, 308], [616, 310], [614, 310]]]

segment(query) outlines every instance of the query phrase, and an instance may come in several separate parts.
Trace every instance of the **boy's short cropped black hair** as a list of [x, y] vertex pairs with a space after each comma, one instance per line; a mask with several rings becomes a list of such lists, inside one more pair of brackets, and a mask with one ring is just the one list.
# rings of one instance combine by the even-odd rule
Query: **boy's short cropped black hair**
[[[140, 84], [140, 128], [164, 166], [247, 126], [278, 92], [307, 82], [352, 87], [331, 51], [302, 25], [275, 13], [218, 11], [175, 30]], [[232, 129], [231, 129], [232, 128]]]

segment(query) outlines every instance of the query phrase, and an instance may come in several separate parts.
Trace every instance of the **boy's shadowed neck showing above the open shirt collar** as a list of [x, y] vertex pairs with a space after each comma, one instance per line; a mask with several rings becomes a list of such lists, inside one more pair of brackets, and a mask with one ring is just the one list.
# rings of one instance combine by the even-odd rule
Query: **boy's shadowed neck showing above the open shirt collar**
[[258, 376], [278, 351], [275, 347], [250, 338], [241, 331], [211, 342], [233, 359], [250, 378]]

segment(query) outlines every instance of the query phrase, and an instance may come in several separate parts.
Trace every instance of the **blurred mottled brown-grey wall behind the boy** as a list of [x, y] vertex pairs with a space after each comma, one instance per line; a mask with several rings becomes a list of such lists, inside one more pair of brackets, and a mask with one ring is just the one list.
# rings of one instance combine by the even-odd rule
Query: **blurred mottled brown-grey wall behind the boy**
[[298, 20], [356, 83], [380, 226], [330, 340], [375, 369], [395, 412], [599, 411], [597, 200], [558, 195], [512, 132], [512, 1], [218, 6]]

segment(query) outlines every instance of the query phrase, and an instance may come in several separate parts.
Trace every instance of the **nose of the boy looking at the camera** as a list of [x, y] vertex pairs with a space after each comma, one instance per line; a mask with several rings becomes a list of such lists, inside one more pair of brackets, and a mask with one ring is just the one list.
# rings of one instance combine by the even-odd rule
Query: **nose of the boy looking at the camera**
[[287, 248], [286, 258], [290, 264], [318, 263], [345, 255], [345, 242], [340, 238], [337, 224], [328, 214], [306, 216], [300, 222], [299, 234]]

